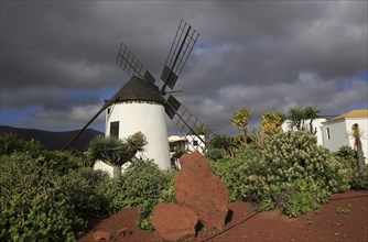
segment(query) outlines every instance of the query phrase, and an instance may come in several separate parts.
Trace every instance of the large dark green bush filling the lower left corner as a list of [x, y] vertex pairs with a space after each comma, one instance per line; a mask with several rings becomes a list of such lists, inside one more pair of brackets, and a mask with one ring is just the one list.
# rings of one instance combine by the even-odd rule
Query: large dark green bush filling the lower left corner
[[1, 156], [1, 241], [76, 241], [87, 219], [107, 212], [108, 200], [95, 187], [108, 175], [91, 168], [67, 173], [73, 156], [53, 154], [66, 165], [47, 161], [43, 151], [39, 157], [19, 152]]

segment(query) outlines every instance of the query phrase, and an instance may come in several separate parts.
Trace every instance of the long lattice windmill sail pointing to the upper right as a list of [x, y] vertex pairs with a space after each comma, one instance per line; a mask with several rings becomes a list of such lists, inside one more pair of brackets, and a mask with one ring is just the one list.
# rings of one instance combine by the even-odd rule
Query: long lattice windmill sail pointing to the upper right
[[163, 95], [166, 94], [166, 86], [171, 89], [174, 88], [198, 36], [199, 34], [190, 24], [183, 20], [181, 21], [161, 74], [161, 79], [164, 82], [161, 88]]

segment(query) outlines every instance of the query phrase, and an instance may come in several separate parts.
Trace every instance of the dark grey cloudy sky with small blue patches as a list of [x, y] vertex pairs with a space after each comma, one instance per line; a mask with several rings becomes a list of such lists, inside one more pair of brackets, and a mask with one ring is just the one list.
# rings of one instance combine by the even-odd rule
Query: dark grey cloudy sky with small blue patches
[[293, 106], [367, 108], [367, 1], [0, 4], [1, 124], [80, 128], [129, 79], [115, 63], [120, 43], [159, 79], [181, 19], [201, 35], [175, 96], [216, 132], [236, 132], [241, 107], [253, 125]]

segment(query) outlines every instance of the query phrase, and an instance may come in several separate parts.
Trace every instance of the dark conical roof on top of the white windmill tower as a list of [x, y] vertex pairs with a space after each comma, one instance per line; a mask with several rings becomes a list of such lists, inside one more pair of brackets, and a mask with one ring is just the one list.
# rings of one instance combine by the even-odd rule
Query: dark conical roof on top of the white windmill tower
[[165, 99], [162, 97], [158, 86], [133, 76], [116, 95], [113, 95], [110, 101], [155, 101], [163, 103]]

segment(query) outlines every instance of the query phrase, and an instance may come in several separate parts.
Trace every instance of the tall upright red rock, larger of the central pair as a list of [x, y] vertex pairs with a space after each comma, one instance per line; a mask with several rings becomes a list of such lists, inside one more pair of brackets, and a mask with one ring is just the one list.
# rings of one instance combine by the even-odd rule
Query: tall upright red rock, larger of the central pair
[[195, 211], [205, 228], [223, 229], [229, 210], [227, 187], [199, 152], [185, 154], [180, 161], [174, 185], [177, 204]]

